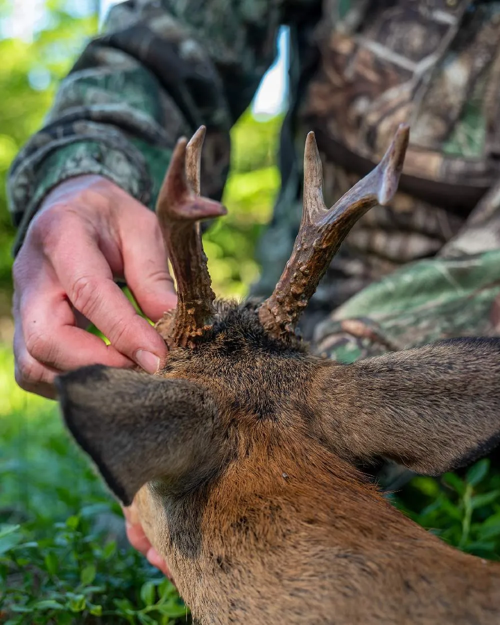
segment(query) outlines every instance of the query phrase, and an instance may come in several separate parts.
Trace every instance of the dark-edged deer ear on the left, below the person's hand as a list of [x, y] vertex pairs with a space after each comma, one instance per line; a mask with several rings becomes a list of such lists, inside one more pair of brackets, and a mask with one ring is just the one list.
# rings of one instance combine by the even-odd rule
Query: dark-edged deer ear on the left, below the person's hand
[[146, 482], [196, 479], [208, 450], [217, 457], [216, 406], [192, 382], [96, 365], [56, 387], [66, 426], [126, 506]]

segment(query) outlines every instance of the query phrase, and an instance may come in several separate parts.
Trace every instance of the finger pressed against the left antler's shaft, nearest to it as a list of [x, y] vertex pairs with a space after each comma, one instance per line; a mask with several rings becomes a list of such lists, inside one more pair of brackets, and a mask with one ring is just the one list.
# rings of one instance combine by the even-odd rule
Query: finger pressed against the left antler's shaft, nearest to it
[[143, 211], [140, 218], [121, 222], [124, 277], [144, 314], [158, 321], [176, 307], [177, 295], [158, 219], [148, 209]]

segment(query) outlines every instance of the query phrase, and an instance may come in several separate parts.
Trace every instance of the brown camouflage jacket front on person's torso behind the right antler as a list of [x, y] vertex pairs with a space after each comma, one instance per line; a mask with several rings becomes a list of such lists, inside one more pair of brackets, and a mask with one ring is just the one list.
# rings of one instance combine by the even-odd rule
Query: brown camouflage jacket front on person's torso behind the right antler
[[[319, 61], [309, 80], [299, 79], [289, 144], [300, 154], [306, 132], [316, 131], [327, 203], [377, 162], [397, 124], [409, 121], [411, 136], [399, 192], [352, 230], [314, 296], [306, 336], [373, 281], [437, 254], [500, 178], [500, 2], [327, 0], [315, 37]], [[294, 168], [284, 171], [260, 247], [274, 271], [256, 294], [276, 282], [299, 224]]]

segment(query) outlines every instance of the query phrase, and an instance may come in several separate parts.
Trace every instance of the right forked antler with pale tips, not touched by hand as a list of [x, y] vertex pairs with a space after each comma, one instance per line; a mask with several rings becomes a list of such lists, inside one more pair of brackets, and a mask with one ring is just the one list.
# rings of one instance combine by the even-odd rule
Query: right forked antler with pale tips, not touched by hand
[[365, 178], [327, 209], [322, 168], [314, 133], [304, 151], [304, 209], [292, 255], [272, 295], [261, 304], [259, 319], [275, 336], [294, 331], [332, 257], [357, 219], [376, 204], [387, 204], [397, 189], [409, 126], [401, 124], [384, 158]]

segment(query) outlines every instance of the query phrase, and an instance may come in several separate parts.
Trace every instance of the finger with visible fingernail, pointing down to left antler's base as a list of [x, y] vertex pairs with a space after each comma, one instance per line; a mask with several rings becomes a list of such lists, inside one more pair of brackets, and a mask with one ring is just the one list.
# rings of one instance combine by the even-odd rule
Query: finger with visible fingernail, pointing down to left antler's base
[[78, 231], [71, 246], [53, 254], [54, 269], [73, 306], [108, 337], [121, 354], [146, 371], [158, 371], [166, 346], [134, 309], [113, 281], [113, 274], [96, 241]]

